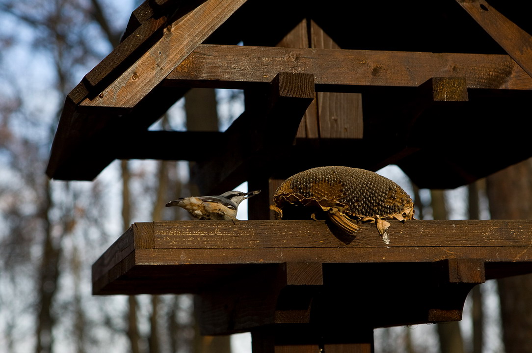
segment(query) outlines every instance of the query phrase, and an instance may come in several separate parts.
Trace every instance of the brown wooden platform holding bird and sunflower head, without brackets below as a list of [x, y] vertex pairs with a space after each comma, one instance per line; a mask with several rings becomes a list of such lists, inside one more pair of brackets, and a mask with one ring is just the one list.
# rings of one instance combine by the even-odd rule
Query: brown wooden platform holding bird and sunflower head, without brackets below
[[199, 293], [285, 262], [322, 264], [485, 262], [485, 278], [532, 272], [532, 220], [392, 221], [343, 238], [325, 221], [135, 223], [93, 265], [94, 294]]

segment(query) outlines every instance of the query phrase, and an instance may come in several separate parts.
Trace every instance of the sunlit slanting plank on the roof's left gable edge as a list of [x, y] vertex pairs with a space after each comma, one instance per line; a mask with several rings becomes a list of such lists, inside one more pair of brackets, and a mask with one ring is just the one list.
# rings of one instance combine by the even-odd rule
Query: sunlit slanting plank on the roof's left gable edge
[[83, 106], [134, 108], [246, 0], [206, 0], [163, 30], [162, 38]]

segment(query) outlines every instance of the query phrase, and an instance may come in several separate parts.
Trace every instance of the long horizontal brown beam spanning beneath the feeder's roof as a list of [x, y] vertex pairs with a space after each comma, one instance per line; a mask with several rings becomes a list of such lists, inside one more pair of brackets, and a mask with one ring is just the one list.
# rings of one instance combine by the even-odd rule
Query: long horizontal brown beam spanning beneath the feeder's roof
[[463, 77], [467, 88], [532, 89], [532, 78], [508, 55], [225, 45], [198, 46], [164, 84], [245, 88], [277, 72], [313, 73], [318, 92], [418, 87], [432, 77]]

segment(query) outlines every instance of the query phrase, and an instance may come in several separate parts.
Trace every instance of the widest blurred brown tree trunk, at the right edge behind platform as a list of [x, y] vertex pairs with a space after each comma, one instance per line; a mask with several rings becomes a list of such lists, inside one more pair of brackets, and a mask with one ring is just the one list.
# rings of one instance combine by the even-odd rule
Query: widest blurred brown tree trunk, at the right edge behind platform
[[[487, 178], [492, 219], [532, 219], [532, 159]], [[507, 353], [532, 352], [532, 275], [498, 280]]]

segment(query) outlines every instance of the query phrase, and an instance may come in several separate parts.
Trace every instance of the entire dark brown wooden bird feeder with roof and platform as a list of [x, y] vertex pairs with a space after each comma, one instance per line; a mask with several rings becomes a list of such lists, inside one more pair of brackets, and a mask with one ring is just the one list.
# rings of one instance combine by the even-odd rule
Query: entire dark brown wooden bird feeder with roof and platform
[[[133, 224], [94, 264], [94, 294], [199, 294], [203, 333], [251, 331], [254, 353], [371, 352], [375, 327], [459, 320], [476, 284], [532, 272], [530, 220], [393, 221], [389, 245], [372, 225], [346, 239], [270, 220], [280, 180], [312, 167], [393, 163], [454, 188], [532, 156], [532, 5], [351, 7], [147, 0], [132, 13], [66, 97], [48, 176], [194, 160], [202, 194], [246, 180], [263, 192], [251, 221]], [[220, 133], [147, 130], [193, 87], [244, 89], [245, 112]], [[216, 153], [175, 148], [198, 139]]]

